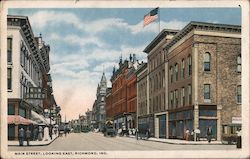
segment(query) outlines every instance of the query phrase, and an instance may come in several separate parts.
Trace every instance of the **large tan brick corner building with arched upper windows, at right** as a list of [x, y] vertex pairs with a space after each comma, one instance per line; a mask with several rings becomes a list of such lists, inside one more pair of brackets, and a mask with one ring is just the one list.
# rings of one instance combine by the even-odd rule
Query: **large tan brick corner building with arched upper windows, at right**
[[222, 129], [241, 118], [241, 27], [191, 22], [165, 47], [169, 138], [186, 129]]

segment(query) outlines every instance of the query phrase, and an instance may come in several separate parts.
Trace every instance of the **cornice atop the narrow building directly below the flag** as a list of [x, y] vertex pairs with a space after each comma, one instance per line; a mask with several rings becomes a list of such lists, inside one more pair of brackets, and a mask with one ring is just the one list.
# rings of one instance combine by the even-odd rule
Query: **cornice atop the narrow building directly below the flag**
[[176, 34], [179, 30], [173, 30], [173, 29], [163, 29], [151, 43], [143, 50], [145, 53], [149, 53], [166, 35], [169, 34]]

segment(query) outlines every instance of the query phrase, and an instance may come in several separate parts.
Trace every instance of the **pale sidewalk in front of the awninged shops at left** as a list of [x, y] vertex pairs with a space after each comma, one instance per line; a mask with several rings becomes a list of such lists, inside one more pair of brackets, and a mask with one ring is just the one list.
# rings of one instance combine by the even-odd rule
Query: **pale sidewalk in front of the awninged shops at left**
[[[30, 145], [29, 146], [47, 146], [49, 144], [51, 144], [56, 138], [58, 138], [58, 135], [53, 134], [52, 135], [52, 140], [49, 138], [47, 141], [30, 141]], [[19, 141], [8, 141], [8, 146], [19, 146]], [[27, 141], [23, 142], [23, 146], [27, 146]]]

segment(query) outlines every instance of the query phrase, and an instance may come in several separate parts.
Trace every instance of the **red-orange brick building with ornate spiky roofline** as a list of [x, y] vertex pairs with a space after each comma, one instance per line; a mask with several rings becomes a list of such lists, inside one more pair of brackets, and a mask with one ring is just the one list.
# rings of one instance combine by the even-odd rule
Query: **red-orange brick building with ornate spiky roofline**
[[[122, 58], [119, 68], [113, 70], [112, 83], [112, 105], [108, 106], [107, 114], [114, 120], [116, 129], [125, 127], [131, 129], [136, 127], [136, 74], [138, 61], [130, 55], [129, 61]], [[108, 99], [109, 100], [109, 99]]]

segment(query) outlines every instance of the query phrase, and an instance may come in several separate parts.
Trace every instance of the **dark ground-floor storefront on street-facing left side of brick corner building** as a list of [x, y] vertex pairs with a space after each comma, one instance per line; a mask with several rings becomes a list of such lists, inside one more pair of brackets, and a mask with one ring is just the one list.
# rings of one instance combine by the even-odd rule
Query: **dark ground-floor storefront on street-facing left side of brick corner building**
[[185, 131], [192, 131], [193, 128], [193, 110], [183, 110], [169, 113], [169, 138], [184, 139]]

